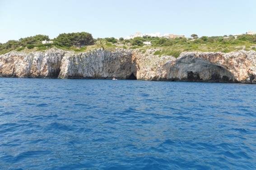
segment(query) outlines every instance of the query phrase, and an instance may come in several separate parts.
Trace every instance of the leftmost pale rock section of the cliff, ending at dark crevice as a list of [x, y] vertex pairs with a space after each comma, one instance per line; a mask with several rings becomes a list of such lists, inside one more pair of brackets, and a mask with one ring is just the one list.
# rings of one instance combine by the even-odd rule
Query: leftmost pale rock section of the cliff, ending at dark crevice
[[0, 55], [0, 76], [58, 77], [61, 60], [66, 52], [50, 49], [46, 52], [24, 53], [11, 51]]

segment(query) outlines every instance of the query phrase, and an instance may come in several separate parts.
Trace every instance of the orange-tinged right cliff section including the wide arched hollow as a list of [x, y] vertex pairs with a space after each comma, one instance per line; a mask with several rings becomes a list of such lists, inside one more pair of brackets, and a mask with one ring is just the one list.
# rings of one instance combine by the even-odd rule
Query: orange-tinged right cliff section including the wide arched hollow
[[[156, 51], [158, 49], [155, 49]], [[256, 83], [256, 52], [186, 52], [178, 58], [135, 51], [141, 80]]]

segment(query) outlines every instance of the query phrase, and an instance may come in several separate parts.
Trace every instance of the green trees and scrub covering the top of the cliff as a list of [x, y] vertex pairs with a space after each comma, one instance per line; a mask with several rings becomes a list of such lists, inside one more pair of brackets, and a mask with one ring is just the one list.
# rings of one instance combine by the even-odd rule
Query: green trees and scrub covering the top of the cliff
[[[192, 36], [192, 35], [191, 35]], [[158, 49], [155, 55], [172, 55], [177, 57], [181, 52], [201, 51], [201, 52], [224, 52], [244, 50], [256, 51], [256, 35], [238, 36], [202, 36], [197, 35], [191, 38], [159, 38], [159, 37], [136, 37], [131, 40], [119, 40], [114, 37], [93, 39], [87, 32], [62, 33], [52, 39], [51, 44], [42, 44], [42, 40], [50, 40], [49, 36], [36, 35], [19, 40], [9, 40], [4, 44], [0, 43], [0, 54], [5, 54], [11, 50], [42, 51], [51, 47], [76, 52], [86, 52], [92, 49], [123, 48], [123, 49]], [[151, 46], [145, 46], [143, 42], [151, 41]]]

